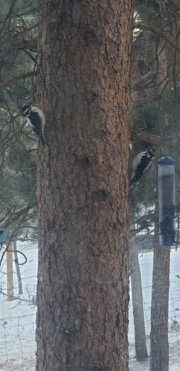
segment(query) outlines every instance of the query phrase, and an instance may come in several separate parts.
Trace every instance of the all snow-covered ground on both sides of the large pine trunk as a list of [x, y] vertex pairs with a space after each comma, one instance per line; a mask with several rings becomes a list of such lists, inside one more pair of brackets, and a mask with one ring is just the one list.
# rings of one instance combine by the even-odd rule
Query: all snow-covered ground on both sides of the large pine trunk
[[[0, 295], [0, 370], [35, 370], [36, 307], [30, 301], [36, 290], [37, 247], [19, 248], [27, 256], [27, 264], [21, 267], [24, 295], [22, 299], [7, 302]], [[20, 258], [23, 262], [23, 257]], [[144, 299], [144, 318], [146, 326], [147, 351], [150, 354], [150, 307], [153, 253], [139, 255]], [[3, 265], [6, 272], [6, 264]], [[15, 269], [14, 269], [15, 272]], [[172, 326], [176, 320], [180, 324], [180, 249], [171, 250], [169, 293], [169, 371], [180, 371], [180, 327]], [[1, 273], [3, 292], [6, 293], [6, 275]], [[14, 273], [14, 295], [18, 296], [17, 278]], [[130, 291], [131, 297], [131, 291]], [[29, 301], [29, 302], [28, 302]], [[148, 371], [149, 359], [137, 362], [134, 348], [133, 309], [129, 309], [129, 367], [130, 371]], [[78, 370], [77, 370], [78, 371]]]

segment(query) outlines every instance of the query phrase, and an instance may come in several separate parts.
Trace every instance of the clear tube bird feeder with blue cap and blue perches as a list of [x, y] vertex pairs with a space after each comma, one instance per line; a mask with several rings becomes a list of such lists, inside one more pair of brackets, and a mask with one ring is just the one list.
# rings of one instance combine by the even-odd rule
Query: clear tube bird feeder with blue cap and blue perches
[[160, 245], [172, 246], [176, 242], [175, 161], [162, 157], [158, 161], [159, 181], [159, 234]]

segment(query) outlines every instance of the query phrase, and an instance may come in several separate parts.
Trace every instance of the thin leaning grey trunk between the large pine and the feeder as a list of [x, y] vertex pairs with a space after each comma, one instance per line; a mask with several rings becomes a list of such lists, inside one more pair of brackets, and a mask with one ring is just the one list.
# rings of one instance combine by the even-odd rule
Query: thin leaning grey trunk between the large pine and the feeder
[[132, 289], [136, 360], [144, 361], [148, 358], [148, 354], [146, 348], [141, 272], [135, 237], [131, 238], [130, 243], [129, 268]]

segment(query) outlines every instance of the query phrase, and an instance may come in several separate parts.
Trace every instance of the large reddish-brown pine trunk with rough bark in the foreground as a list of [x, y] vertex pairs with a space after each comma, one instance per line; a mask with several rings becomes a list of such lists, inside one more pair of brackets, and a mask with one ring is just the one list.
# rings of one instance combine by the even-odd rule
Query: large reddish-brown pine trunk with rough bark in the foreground
[[39, 0], [36, 371], [127, 371], [131, 1]]

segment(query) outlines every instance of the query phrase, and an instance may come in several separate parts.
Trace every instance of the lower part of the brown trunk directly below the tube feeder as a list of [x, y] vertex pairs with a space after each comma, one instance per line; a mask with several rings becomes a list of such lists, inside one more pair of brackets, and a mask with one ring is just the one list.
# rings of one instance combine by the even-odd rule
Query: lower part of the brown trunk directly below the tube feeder
[[[159, 233], [155, 224], [154, 236]], [[169, 370], [168, 308], [169, 308], [170, 246], [154, 243], [153, 284], [151, 298], [150, 371]]]

